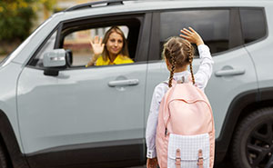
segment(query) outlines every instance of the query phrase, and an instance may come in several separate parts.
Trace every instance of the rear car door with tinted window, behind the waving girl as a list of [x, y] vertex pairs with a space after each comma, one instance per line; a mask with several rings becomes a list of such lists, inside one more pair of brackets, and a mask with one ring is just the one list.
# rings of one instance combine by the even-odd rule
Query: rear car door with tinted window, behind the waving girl
[[[153, 30], [160, 28], [151, 37], [153, 45], [149, 53], [147, 100], [151, 100], [153, 88], [167, 80], [169, 75], [161, 54], [155, 51], [162, 51], [167, 37], [179, 35], [179, 30], [184, 27], [193, 27], [203, 37], [213, 55], [213, 73], [205, 92], [215, 117], [216, 138], [220, 139], [222, 125], [227, 119], [227, 109], [233, 99], [249, 89], [258, 88], [253, 62], [243, 47], [238, 10], [181, 9], [157, 12], [153, 19]], [[200, 61], [198, 57], [194, 59], [194, 72], [197, 72]], [[149, 105], [146, 106], [146, 119], [148, 111]]]

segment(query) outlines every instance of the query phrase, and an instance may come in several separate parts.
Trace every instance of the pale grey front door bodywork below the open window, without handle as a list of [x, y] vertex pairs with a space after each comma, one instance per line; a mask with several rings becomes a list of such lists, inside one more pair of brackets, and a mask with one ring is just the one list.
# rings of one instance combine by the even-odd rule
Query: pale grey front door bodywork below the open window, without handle
[[[54, 77], [26, 67], [18, 82], [25, 153], [144, 138], [146, 71], [147, 64], [126, 64], [60, 71]], [[126, 79], [137, 79], [139, 84], [108, 85]]]

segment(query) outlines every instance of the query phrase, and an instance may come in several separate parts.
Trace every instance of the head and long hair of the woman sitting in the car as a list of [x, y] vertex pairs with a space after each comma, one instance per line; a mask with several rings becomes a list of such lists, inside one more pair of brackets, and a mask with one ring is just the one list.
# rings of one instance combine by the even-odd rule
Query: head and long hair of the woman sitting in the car
[[102, 53], [104, 60], [109, 58], [109, 55], [122, 54], [129, 56], [127, 50], [126, 37], [123, 32], [117, 26], [111, 27], [103, 39], [103, 44], [105, 44], [105, 49]]

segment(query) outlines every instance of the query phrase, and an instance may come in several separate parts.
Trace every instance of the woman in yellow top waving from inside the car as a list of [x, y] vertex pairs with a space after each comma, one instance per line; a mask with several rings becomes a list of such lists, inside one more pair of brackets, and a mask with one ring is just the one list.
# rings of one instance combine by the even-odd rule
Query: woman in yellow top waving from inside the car
[[102, 40], [96, 36], [90, 40], [94, 55], [86, 64], [86, 67], [93, 65], [108, 65], [108, 64], [130, 64], [134, 63], [130, 59], [126, 44], [126, 37], [117, 26], [111, 27]]

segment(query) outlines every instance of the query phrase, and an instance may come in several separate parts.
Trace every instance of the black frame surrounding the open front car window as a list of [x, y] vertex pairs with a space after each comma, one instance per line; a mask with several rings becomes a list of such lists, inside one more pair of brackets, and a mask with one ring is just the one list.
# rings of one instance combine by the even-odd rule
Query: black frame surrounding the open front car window
[[[78, 18], [74, 18], [74, 19], [66, 19], [61, 21], [60, 23], [58, 23], [56, 25], [56, 27], [50, 32], [50, 34], [48, 34], [45, 38], [45, 40], [43, 41], [42, 44], [39, 45], [39, 47], [37, 48], [37, 50], [35, 51], [35, 54], [33, 54], [31, 56], [31, 58], [29, 59], [29, 61], [27, 62], [26, 66], [27, 67], [31, 67], [34, 69], [40, 69], [40, 70], [46, 70], [46, 69], [57, 69], [60, 71], [63, 70], [69, 70], [69, 69], [78, 69], [78, 68], [85, 68], [87, 69], [85, 66], [74, 66], [73, 68], [69, 68], [69, 67], [55, 67], [55, 68], [48, 68], [48, 67], [38, 67], [35, 65], [32, 65], [32, 61], [35, 58], [35, 56], [41, 51], [41, 49], [45, 46], [46, 42], [48, 41], [48, 39], [56, 32], [56, 42], [54, 44], [54, 49], [58, 49], [60, 48], [60, 39], [61, 39], [61, 31], [64, 29], [64, 26], [66, 26], [65, 24], [67, 23], [76, 23], [76, 22], [82, 22], [83, 20], [86, 20], [87, 23], [98, 23], [98, 22], [102, 22], [102, 21], [122, 21], [123, 18], [136, 18], [136, 17], [141, 17], [142, 20], [140, 21], [140, 27], [139, 27], [139, 32], [138, 32], [138, 40], [137, 40], [137, 44], [136, 44], [136, 54], [135, 54], [135, 59], [137, 60], [137, 62], [135, 62], [134, 64], [147, 64], [147, 48], [148, 48], [148, 44], [150, 42], [149, 37], [150, 37], [150, 31], [145, 31], [145, 30], [150, 30], [150, 20], [151, 20], [151, 13], [147, 12], [134, 12], [134, 13], [121, 13], [121, 14], [111, 14], [111, 15], [87, 15], [87, 16], [82, 16], [82, 17], [78, 17]], [[94, 21], [95, 19], [95, 21]], [[89, 21], [88, 21], [89, 20]], [[92, 20], [92, 21], [91, 21]], [[148, 42], [148, 43], [145, 43]], [[146, 44], [146, 45], [145, 45]], [[129, 65], [129, 64], [113, 64], [111, 66], [118, 66], [118, 65]], [[106, 66], [98, 66], [98, 67], [107, 67], [109, 65]], [[96, 66], [90, 66], [88, 68], [94, 68]]]

